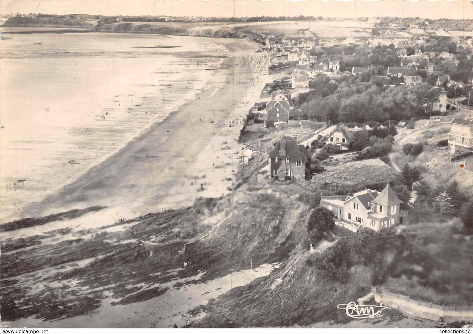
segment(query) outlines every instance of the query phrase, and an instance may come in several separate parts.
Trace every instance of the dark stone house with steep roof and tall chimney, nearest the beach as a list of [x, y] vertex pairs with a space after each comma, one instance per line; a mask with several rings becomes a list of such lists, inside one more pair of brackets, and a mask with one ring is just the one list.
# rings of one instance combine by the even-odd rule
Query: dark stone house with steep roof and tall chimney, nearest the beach
[[270, 178], [304, 180], [309, 163], [306, 146], [298, 145], [297, 136], [284, 136], [268, 149]]

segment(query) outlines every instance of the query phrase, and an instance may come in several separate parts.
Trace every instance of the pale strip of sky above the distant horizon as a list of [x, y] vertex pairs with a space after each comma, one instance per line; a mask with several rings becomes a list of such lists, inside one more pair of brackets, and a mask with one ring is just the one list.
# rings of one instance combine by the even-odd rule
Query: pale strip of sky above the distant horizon
[[0, 14], [473, 19], [472, 0], [1, 0]]

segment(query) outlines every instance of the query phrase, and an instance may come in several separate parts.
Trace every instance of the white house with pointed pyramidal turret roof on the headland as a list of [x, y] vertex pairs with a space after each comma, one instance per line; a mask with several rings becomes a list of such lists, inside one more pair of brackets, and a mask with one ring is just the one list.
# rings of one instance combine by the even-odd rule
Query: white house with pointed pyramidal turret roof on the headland
[[381, 192], [365, 189], [352, 196], [323, 196], [320, 206], [345, 223], [379, 231], [401, 223], [402, 203], [388, 183]]

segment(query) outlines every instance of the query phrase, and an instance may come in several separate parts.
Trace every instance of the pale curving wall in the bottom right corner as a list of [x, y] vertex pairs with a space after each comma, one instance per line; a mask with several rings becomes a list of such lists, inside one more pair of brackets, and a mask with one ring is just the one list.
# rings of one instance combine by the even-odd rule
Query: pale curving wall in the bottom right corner
[[427, 303], [422, 300], [413, 300], [410, 296], [393, 293], [383, 288], [371, 287], [377, 302], [385, 306], [397, 308], [404, 313], [414, 317], [420, 317], [441, 322], [473, 321], [473, 305], [466, 306], [444, 306]]

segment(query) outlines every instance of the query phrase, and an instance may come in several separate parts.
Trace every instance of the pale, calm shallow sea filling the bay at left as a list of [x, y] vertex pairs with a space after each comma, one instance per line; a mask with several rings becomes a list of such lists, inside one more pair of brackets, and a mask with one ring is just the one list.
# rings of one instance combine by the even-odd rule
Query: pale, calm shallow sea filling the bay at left
[[187, 36], [2, 37], [1, 222], [192, 99], [227, 52], [221, 40]]

